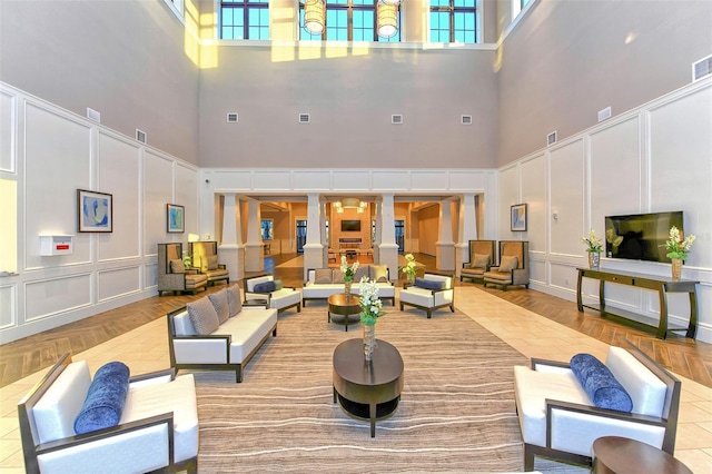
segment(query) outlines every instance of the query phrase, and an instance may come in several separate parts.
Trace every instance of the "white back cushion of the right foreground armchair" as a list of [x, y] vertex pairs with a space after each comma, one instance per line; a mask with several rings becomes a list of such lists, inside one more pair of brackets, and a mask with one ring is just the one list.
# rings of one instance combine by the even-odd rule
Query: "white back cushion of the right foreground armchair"
[[633, 413], [662, 417], [668, 393], [663, 381], [622, 347], [611, 346], [605, 365], [631, 396]]

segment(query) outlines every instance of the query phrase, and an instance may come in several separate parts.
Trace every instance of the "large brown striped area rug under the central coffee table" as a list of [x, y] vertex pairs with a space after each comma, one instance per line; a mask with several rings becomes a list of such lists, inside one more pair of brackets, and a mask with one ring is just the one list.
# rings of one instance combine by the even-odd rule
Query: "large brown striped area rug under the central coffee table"
[[[332, 357], [360, 325], [327, 323], [326, 305], [279, 316], [271, 337], [234, 374], [196, 372], [199, 471], [512, 472], [522, 471], [513, 366], [527, 359], [466, 315], [388, 308], [377, 337], [404, 361], [396, 412], [376, 424], [333, 403]], [[551, 466], [556, 472], [556, 463]]]

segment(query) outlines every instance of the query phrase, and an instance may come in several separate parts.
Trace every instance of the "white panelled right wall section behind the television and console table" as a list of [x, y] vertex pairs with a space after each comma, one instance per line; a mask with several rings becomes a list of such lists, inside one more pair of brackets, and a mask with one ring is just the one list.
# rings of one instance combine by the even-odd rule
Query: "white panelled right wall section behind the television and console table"
[[[604, 217], [684, 211], [696, 235], [682, 277], [698, 286], [698, 338], [712, 343], [712, 78], [686, 86], [500, 169], [500, 239], [531, 241], [531, 287], [575, 299], [581, 237], [605, 235]], [[510, 206], [526, 203], [526, 233], [510, 231]], [[554, 218], [554, 214], [557, 218]], [[602, 258], [601, 267], [670, 276], [670, 264]], [[609, 285], [606, 304], [657, 318], [657, 294]], [[587, 300], [597, 284], [585, 282]], [[686, 326], [686, 294], [669, 296], [671, 319]]]

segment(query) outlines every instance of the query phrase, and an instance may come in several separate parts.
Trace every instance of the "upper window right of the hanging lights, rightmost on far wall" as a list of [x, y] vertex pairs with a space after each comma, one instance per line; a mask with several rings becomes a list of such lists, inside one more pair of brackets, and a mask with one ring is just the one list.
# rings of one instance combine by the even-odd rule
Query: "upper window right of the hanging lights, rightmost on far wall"
[[481, 42], [477, 0], [429, 0], [431, 42]]

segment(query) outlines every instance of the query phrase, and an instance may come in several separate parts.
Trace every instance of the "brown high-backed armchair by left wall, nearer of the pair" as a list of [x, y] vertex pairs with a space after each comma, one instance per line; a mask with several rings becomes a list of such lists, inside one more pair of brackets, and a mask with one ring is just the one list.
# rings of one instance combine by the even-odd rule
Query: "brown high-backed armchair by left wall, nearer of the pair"
[[158, 244], [158, 296], [164, 292], [192, 292], [205, 289], [208, 277], [197, 268], [182, 264], [182, 244]]

